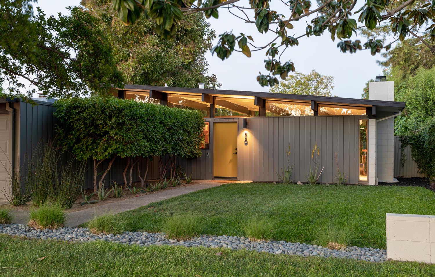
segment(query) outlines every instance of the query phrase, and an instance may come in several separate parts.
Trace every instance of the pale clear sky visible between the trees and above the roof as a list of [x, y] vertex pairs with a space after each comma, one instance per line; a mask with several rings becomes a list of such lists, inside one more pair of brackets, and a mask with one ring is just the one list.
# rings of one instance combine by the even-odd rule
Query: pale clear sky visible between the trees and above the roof
[[[240, 3], [248, 4], [248, 0], [242, 0]], [[312, 1], [315, 5], [316, 1]], [[271, 5], [278, 1], [271, 1]], [[77, 6], [80, 0], [39, 0], [35, 6], [49, 15], [56, 15], [58, 12], [68, 13], [66, 7]], [[278, 12], [288, 14], [288, 10], [282, 10], [284, 5], [271, 6], [272, 9]], [[356, 7], [355, 10], [358, 10]], [[282, 10], [282, 11], [281, 11]], [[251, 12], [252, 13], [252, 12]], [[359, 15], [359, 14], [358, 14]], [[357, 16], [358, 16], [357, 15]], [[249, 17], [253, 17], [248, 13]], [[309, 22], [311, 17], [307, 19]], [[264, 45], [270, 41], [272, 33], [258, 33], [254, 24], [244, 23], [243, 20], [234, 17], [228, 12], [228, 9], [220, 9], [219, 19], [211, 18], [208, 20], [211, 28], [219, 35], [226, 31], [233, 31], [234, 34], [244, 33], [252, 35], [254, 43], [257, 46]], [[305, 33], [305, 20], [293, 22], [294, 32], [297, 37]], [[292, 33], [289, 33], [292, 35]], [[352, 40], [361, 38], [352, 36]], [[361, 42], [364, 43], [364, 39]], [[217, 39], [215, 40], [215, 43]], [[281, 57], [281, 60], [291, 60], [294, 63], [296, 71], [301, 73], [309, 73], [315, 69], [323, 75], [331, 75], [334, 77], [334, 89], [332, 95], [338, 97], [361, 98], [362, 89], [365, 83], [374, 79], [375, 76], [381, 74], [382, 68], [378, 66], [376, 60], [381, 60], [382, 57], [378, 54], [371, 56], [369, 50], [358, 51], [357, 53], [341, 53], [337, 48], [337, 42], [331, 40], [330, 33], [325, 31], [321, 37], [303, 37], [299, 39], [299, 45], [288, 48]], [[253, 48], [251, 47], [251, 50]], [[206, 58], [209, 66], [209, 73], [216, 74], [218, 81], [222, 83], [221, 89], [224, 90], [247, 90], [247, 91], [264, 91], [267, 92], [269, 87], [261, 87], [256, 77], [258, 72], [267, 73], [264, 69], [264, 59], [266, 50], [252, 52], [252, 57], [248, 58], [242, 53], [234, 52], [228, 60], [222, 61], [216, 55], [212, 56], [207, 53]]]

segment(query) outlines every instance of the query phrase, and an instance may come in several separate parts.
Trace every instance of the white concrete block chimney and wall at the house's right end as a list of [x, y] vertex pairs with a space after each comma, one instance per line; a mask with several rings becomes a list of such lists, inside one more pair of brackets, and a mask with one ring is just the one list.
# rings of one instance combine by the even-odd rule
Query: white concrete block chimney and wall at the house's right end
[[[394, 82], [370, 82], [368, 84], [368, 98], [394, 101]], [[378, 184], [378, 181], [392, 182], [394, 180], [394, 118], [381, 121], [369, 119], [368, 121], [369, 140], [370, 137], [372, 137], [372, 143], [375, 140], [375, 146], [371, 147], [372, 151], [370, 151], [369, 141], [368, 184], [375, 185]], [[375, 133], [370, 133], [371, 130], [374, 130]], [[370, 161], [375, 164], [374, 168], [371, 167], [373, 164], [370, 164]]]

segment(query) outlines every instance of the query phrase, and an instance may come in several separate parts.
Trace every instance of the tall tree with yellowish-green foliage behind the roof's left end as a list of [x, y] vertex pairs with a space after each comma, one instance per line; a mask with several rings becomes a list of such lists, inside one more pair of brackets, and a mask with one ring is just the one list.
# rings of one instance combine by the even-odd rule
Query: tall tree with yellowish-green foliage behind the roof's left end
[[141, 15], [134, 25], [124, 26], [110, 0], [83, 0], [86, 10], [100, 18], [100, 26], [110, 38], [117, 57], [117, 68], [124, 82], [172, 87], [217, 88], [216, 76], [207, 75], [205, 54], [216, 38], [203, 14], [195, 13], [178, 21], [172, 40], [157, 34], [156, 23]]

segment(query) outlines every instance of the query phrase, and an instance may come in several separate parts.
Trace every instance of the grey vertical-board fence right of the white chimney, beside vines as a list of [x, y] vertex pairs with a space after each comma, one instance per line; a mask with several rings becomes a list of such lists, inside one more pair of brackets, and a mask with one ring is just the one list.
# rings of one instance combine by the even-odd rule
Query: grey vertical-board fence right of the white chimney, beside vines
[[411, 147], [406, 146], [403, 150], [405, 154], [405, 164], [402, 167], [402, 150], [400, 137], [394, 137], [394, 177], [426, 177], [425, 174], [418, 173], [417, 163], [412, 160]]

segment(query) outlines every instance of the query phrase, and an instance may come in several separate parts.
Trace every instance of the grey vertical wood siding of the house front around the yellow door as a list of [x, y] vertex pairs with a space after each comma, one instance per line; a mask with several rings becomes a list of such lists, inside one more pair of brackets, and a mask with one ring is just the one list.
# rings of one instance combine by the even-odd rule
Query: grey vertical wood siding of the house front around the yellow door
[[[293, 180], [305, 182], [311, 150], [317, 142], [320, 148], [319, 182], [334, 183], [338, 166], [349, 177], [350, 184], [358, 184], [358, 126], [365, 116], [308, 116], [308, 117], [248, 117], [207, 118], [210, 122], [210, 149], [201, 150], [196, 159], [177, 159], [184, 172], [194, 179], [213, 178], [213, 123], [238, 122], [238, 180], [279, 181], [276, 172], [287, 164], [285, 149], [290, 145], [290, 164], [294, 164]], [[248, 144], [244, 144], [244, 133]], [[207, 157], [207, 152], [209, 156]]]

